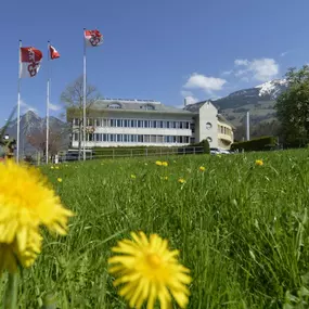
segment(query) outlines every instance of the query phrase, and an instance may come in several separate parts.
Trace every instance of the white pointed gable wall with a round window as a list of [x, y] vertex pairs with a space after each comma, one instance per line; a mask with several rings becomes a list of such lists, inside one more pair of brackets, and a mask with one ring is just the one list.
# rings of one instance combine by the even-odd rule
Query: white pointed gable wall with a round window
[[[210, 103], [206, 102], [199, 108], [199, 117], [198, 117], [198, 126], [196, 126], [195, 130], [198, 129], [198, 140], [196, 142], [201, 142], [207, 138], [210, 138], [209, 141], [210, 147], [218, 147], [218, 118], [217, 118], [218, 111], [217, 108]], [[207, 123], [211, 125], [210, 128], [207, 128]]]

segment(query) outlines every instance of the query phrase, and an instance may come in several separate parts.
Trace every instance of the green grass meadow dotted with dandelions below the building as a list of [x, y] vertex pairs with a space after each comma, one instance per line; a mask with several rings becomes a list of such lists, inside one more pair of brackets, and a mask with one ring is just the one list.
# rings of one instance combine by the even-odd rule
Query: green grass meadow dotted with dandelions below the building
[[42, 168], [77, 216], [66, 237], [44, 232], [42, 254], [23, 273], [21, 308], [39, 308], [47, 292], [61, 309], [127, 308], [106, 261], [136, 230], [180, 249], [193, 276], [189, 308], [308, 308], [309, 152], [165, 159], [168, 167], [129, 158]]

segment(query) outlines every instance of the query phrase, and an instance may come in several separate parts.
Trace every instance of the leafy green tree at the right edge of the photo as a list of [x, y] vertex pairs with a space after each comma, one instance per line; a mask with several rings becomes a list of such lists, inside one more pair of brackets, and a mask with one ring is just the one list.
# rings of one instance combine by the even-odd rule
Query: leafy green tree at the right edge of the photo
[[289, 68], [287, 91], [276, 100], [280, 136], [287, 146], [304, 146], [309, 141], [309, 66]]

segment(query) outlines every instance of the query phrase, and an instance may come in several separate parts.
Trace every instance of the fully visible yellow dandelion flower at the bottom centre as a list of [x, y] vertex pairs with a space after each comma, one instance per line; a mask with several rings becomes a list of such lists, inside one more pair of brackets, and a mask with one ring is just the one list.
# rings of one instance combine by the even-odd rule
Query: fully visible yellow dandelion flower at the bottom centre
[[119, 295], [130, 307], [141, 308], [146, 301], [153, 309], [158, 299], [160, 308], [170, 308], [171, 296], [180, 308], [189, 302], [190, 270], [179, 263], [178, 250], [169, 250], [167, 240], [143, 232], [131, 233], [133, 240], [123, 240], [112, 250], [110, 273], [116, 276], [115, 286], [121, 285]]

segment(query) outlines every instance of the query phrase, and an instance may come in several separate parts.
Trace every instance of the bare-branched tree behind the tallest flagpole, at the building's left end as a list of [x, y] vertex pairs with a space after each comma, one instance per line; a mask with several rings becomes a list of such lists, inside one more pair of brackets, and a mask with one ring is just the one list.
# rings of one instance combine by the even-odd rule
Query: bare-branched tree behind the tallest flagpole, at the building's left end
[[[96, 88], [91, 85], [86, 87], [86, 117], [89, 115], [89, 111], [92, 104], [100, 98]], [[61, 102], [65, 104], [66, 107], [66, 118], [68, 121], [76, 119], [75, 124], [78, 129], [72, 130], [72, 134], [78, 132], [78, 153], [79, 159], [81, 154], [81, 138], [83, 133], [83, 78], [78, 77], [73, 81], [61, 94]], [[70, 111], [74, 111], [70, 113]], [[87, 124], [86, 124], [87, 126]], [[73, 128], [73, 126], [72, 126]]]

